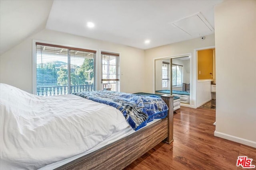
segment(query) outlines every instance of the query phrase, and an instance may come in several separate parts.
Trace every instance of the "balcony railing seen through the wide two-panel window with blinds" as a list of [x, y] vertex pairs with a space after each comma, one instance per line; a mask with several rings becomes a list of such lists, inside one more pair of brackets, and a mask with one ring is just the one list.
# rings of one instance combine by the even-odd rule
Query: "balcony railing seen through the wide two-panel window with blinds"
[[[70, 93], [75, 92], [89, 92], [94, 90], [94, 84], [86, 85], [72, 85], [70, 86]], [[68, 86], [44, 86], [37, 87], [38, 96], [57, 96], [68, 94]]]

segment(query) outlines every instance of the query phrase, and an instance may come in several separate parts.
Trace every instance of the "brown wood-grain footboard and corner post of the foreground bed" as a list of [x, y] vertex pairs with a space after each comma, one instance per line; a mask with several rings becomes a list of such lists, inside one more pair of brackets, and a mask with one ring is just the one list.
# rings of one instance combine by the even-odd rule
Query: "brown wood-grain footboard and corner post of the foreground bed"
[[64, 164], [56, 170], [67, 169], [123, 169], [134, 160], [148, 152], [161, 141], [168, 144], [173, 141], [173, 96], [164, 94], [169, 111], [166, 118], [144, 127], [127, 137], [111, 143], [90, 154]]

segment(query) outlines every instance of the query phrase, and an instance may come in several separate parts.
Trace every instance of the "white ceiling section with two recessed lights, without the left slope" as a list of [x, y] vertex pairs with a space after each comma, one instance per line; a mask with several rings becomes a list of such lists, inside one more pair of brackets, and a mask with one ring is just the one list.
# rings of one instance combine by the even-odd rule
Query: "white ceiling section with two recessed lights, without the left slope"
[[[46, 28], [149, 49], [214, 33], [213, 30], [189, 35], [173, 23], [200, 13], [214, 28], [214, 5], [220, 2], [222, 0], [54, 0]], [[88, 21], [94, 22], [93, 29], [86, 27]], [[197, 29], [200, 25], [192, 21], [187, 26]], [[150, 43], [145, 44], [146, 39], [150, 39]]]

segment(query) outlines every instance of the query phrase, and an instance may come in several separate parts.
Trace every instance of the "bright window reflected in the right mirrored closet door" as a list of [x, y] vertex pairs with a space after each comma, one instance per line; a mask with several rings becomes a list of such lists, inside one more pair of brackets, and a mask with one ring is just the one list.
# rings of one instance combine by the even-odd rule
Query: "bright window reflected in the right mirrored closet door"
[[183, 66], [172, 64], [172, 86], [182, 86]]

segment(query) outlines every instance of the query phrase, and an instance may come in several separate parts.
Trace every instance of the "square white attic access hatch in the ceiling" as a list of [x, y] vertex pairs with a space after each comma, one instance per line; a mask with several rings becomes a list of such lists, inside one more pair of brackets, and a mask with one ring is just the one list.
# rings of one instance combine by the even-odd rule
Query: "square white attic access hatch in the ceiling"
[[214, 32], [213, 27], [199, 12], [172, 23], [192, 37], [207, 35]]

